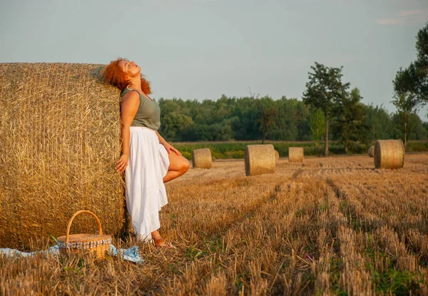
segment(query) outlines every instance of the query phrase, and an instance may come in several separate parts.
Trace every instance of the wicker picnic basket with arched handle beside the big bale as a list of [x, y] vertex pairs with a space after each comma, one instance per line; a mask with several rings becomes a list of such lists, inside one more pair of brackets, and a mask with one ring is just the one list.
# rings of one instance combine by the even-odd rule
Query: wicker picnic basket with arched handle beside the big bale
[[[71, 223], [73, 223], [74, 218], [81, 213], [90, 214], [95, 218], [98, 224], [98, 235], [70, 235]], [[61, 256], [66, 256], [69, 252], [90, 252], [92, 255], [96, 255], [97, 259], [103, 259], [106, 251], [110, 250], [111, 235], [103, 235], [100, 220], [94, 213], [88, 210], [79, 210], [71, 217], [70, 221], [68, 221], [66, 235], [60, 236], [57, 240]]]

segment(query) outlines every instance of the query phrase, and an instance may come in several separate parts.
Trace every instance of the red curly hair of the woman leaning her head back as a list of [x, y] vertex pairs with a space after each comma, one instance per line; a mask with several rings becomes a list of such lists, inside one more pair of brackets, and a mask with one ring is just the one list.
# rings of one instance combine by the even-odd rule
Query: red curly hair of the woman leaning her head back
[[[125, 73], [123, 73], [122, 69], [119, 67], [119, 63], [121, 61], [128, 60], [126, 58], [118, 58], [116, 61], [111, 61], [111, 63], [109, 63], [106, 68], [104, 68], [102, 76], [103, 80], [106, 81], [106, 83], [118, 88], [120, 91], [123, 91], [126, 86], [129, 86], [131, 84], [131, 81], [126, 78]], [[151, 93], [150, 81], [147, 81], [142, 74], [141, 89], [146, 94]]]

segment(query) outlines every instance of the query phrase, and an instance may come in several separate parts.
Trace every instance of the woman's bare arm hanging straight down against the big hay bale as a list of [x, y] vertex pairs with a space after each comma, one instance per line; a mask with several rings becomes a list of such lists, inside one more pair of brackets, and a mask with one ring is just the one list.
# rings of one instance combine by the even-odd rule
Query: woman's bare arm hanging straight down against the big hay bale
[[116, 170], [123, 173], [128, 165], [129, 158], [129, 140], [131, 133], [129, 127], [133, 119], [136, 117], [138, 106], [140, 105], [140, 96], [136, 91], [126, 93], [122, 98], [121, 105], [121, 138], [122, 138], [122, 155], [116, 161]]

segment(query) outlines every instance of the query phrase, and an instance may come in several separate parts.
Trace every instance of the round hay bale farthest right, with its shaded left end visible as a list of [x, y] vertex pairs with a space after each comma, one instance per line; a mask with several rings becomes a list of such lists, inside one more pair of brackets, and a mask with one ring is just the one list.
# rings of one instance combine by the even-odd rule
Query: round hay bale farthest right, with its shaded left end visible
[[402, 168], [404, 145], [401, 140], [377, 140], [374, 146], [375, 168]]

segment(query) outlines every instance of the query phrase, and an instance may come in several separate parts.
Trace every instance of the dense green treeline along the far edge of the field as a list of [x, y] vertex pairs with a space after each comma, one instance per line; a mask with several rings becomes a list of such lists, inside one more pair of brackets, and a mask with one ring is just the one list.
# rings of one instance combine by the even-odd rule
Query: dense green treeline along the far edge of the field
[[[323, 140], [325, 118], [320, 109], [295, 98], [274, 100], [244, 97], [218, 100], [164, 99], [161, 106], [160, 133], [169, 141], [317, 141]], [[370, 143], [377, 139], [403, 138], [399, 113], [389, 113], [383, 106], [359, 103], [362, 114], [351, 141]], [[271, 118], [269, 112], [273, 114]], [[267, 115], [266, 115], [267, 114]], [[265, 131], [263, 123], [269, 123]], [[352, 123], [351, 123], [352, 124]], [[409, 140], [427, 140], [428, 123], [416, 114], [409, 116]], [[330, 118], [329, 136], [341, 141], [341, 116]], [[264, 135], [264, 132], [266, 134]]]

